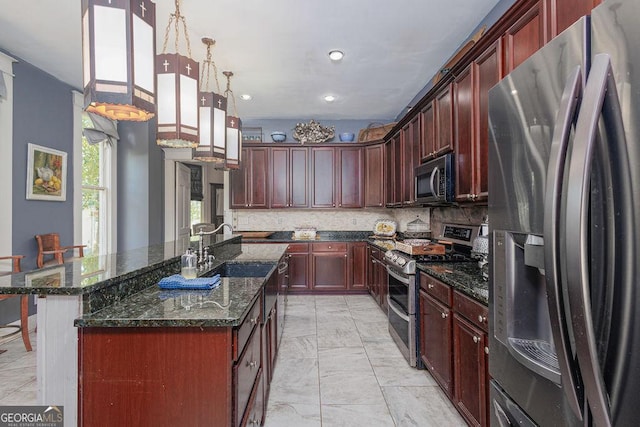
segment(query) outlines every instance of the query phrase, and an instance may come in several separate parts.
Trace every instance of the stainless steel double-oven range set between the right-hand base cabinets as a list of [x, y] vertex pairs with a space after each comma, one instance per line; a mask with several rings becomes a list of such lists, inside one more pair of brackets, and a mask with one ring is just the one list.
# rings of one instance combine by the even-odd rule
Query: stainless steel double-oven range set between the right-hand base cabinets
[[[464, 262], [471, 261], [469, 251], [478, 235], [477, 225], [444, 224], [435, 245], [428, 241], [419, 247], [401, 244], [404, 250], [416, 248], [412, 254], [398, 249], [385, 252], [384, 259], [389, 278], [389, 334], [413, 367], [421, 367], [419, 347], [419, 304], [416, 281], [416, 262]], [[442, 246], [446, 246], [446, 249]], [[438, 246], [437, 248], [434, 246]], [[420, 253], [417, 252], [428, 252]], [[433, 253], [429, 253], [433, 252]], [[439, 253], [442, 252], [442, 253]]]

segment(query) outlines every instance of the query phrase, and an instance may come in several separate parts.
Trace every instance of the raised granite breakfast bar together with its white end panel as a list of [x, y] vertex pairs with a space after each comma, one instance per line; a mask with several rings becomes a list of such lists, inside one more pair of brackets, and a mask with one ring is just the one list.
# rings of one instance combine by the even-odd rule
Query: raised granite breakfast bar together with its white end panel
[[[206, 236], [204, 243], [217, 258], [210, 269], [241, 256], [240, 236]], [[169, 242], [0, 277], [1, 294], [38, 296], [37, 403], [64, 406], [65, 426], [78, 425], [78, 330], [74, 321], [179, 272], [178, 247], [183, 245]]]

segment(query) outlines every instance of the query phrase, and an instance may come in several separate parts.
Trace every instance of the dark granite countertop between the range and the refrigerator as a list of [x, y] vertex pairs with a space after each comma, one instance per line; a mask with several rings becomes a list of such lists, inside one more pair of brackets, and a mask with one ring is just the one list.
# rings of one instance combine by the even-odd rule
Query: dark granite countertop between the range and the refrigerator
[[489, 304], [489, 284], [477, 262], [417, 263], [417, 268], [476, 301]]

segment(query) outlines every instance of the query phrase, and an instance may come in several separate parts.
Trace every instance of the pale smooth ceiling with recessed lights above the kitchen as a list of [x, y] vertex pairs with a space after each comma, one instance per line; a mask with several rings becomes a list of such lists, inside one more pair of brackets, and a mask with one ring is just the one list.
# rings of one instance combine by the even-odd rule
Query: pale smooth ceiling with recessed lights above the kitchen
[[[499, 0], [181, 0], [192, 57], [202, 37], [234, 77], [237, 111], [247, 119], [395, 118]], [[156, 0], [162, 52], [172, 0]], [[81, 2], [6, 1], [0, 48], [81, 90]], [[167, 52], [174, 52], [175, 33]], [[186, 53], [181, 33], [181, 53]], [[328, 52], [344, 51], [332, 63]], [[240, 100], [248, 93], [253, 99]], [[324, 95], [336, 100], [326, 102]]]

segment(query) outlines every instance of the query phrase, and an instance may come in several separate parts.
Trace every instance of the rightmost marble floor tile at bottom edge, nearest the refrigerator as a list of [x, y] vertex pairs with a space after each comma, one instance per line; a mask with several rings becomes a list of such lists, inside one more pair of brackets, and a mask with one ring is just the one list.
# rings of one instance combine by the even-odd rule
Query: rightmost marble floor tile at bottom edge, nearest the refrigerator
[[398, 427], [463, 427], [466, 423], [438, 386], [382, 387]]

